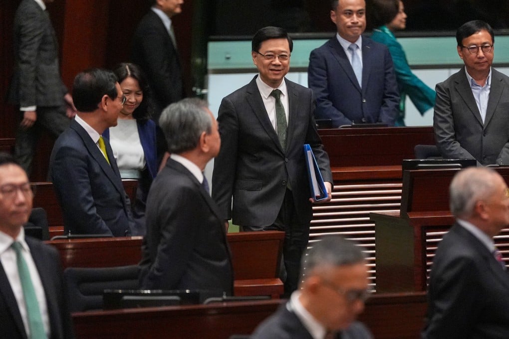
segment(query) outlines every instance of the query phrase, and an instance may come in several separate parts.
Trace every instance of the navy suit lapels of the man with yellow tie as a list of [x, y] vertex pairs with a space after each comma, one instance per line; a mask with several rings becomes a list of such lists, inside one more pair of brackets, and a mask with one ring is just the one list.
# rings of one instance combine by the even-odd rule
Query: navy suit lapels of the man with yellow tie
[[92, 141], [92, 138], [90, 135], [85, 131], [75, 120], [71, 121], [71, 126], [73, 130], [76, 131], [76, 133], [80, 136], [81, 140], [83, 141], [83, 144], [85, 147], [87, 147], [87, 150], [89, 151], [89, 154], [94, 160], [99, 164], [101, 167], [101, 170], [104, 172], [104, 175], [111, 181], [113, 186], [119, 191], [119, 194], [123, 197], [123, 202], [125, 204], [125, 191], [124, 187], [122, 186], [122, 180], [120, 179], [120, 172], [119, 168], [117, 166], [117, 162], [115, 161], [115, 157], [113, 156], [113, 152], [111, 150], [111, 146], [109, 145], [109, 140], [105, 139], [105, 145], [106, 145], [106, 154], [108, 156], [109, 164], [106, 161], [106, 158], [104, 158], [104, 155], [102, 154], [101, 150], [97, 145]]

